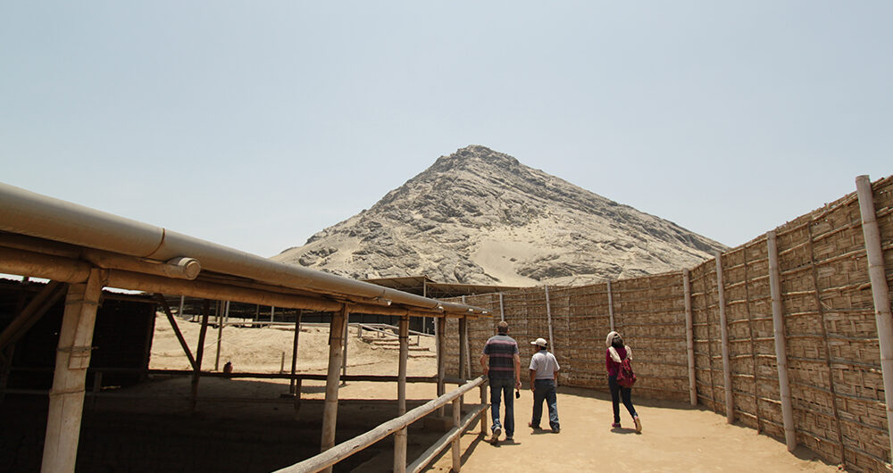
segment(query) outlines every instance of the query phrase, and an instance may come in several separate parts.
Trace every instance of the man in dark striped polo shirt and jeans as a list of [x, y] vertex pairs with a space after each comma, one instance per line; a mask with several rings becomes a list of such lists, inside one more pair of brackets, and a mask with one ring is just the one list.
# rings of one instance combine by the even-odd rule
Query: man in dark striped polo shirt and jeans
[[489, 378], [490, 384], [490, 417], [493, 426], [490, 429], [490, 444], [497, 444], [502, 434], [503, 425], [499, 422], [500, 398], [505, 399], [505, 440], [511, 441], [514, 436], [514, 398], [512, 391], [521, 389], [521, 355], [518, 343], [508, 336], [508, 323], [497, 324], [497, 335], [491, 336], [484, 345], [484, 353], [480, 355], [480, 366]]

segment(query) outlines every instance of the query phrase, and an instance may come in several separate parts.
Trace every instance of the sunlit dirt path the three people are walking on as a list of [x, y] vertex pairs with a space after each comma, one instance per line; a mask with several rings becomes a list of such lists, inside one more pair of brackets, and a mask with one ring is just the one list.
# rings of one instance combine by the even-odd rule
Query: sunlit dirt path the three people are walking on
[[[559, 389], [560, 434], [533, 432], [527, 427], [531, 404], [530, 391], [522, 391], [521, 399], [515, 402], [514, 442], [488, 444], [477, 436], [480, 428], [464, 435], [462, 471], [838, 470], [817, 460], [808, 450], [791, 454], [785, 444], [757, 435], [754, 429], [730, 426], [724, 416], [684, 409], [675, 403], [637, 404], [643, 423], [641, 435], [631, 428], [622, 406], [624, 428], [610, 427], [611, 400], [607, 394]], [[547, 426], [545, 406], [543, 415], [542, 424]], [[447, 449], [428, 471], [449, 471], [451, 464]]]

